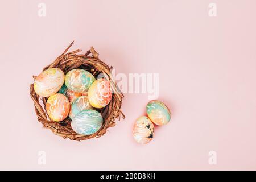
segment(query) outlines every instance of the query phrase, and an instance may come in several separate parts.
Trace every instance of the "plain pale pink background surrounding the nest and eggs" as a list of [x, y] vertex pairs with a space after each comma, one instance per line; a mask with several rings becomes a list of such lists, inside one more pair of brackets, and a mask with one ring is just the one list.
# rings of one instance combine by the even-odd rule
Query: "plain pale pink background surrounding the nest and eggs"
[[[1, 1], [0, 169], [256, 169], [256, 1], [214, 1], [213, 18], [210, 2]], [[72, 49], [94, 46], [117, 73], [159, 73], [172, 120], [152, 142], [131, 135], [147, 94], [125, 94], [126, 119], [104, 137], [75, 142], [42, 129], [32, 75], [72, 40]]]

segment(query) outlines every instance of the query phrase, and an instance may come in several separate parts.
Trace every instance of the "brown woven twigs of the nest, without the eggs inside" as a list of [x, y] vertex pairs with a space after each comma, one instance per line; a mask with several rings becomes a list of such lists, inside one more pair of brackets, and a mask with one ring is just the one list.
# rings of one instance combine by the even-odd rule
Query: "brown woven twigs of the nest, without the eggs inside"
[[[97, 78], [99, 74], [104, 74], [104, 76], [109, 80], [110, 86], [113, 90], [112, 100], [109, 104], [102, 108], [97, 109], [104, 119], [103, 125], [96, 133], [92, 135], [80, 135], [75, 133], [71, 128], [71, 119], [69, 117], [65, 118], [64, 121], [55, 122], [49, 119], [46, 112], [46, 102], [48, 97], [41, 97], [35, 93], [34, 83], [30, 85], [30, 96], [34, 101], [35, 113], [38, 116], [38, 121], [43, 124], [44, 128], [50, 129], [52, 133], [59, 135], [63, 138], [69, 138], [71, 140], [86, 140], [94, 137], [101, 137], [104, 135], [109, 127], [115, 126], [115, 119], [122, 117], [125, 118], [121, 111], [123, 94], [120, 92], [117, 84], [112, 79], [111, 69], [108, 65], [98, 59], [98, 53], [91, 47], [90, 51], [85, 54], [77, 54], [81, 50], [76, 50], [68, 52], [68, 49], [72, 46], [73, 42], [68, 46], [67, 49], [59, 56], [52, 64], [49, 64], [43, 69], [45, 71], [49, 68], [60, 68], [64, 73], [67, 73], [71, 69], [81, 68], [89, 71]], [[67, 53], [68, 52], [68, 53]], [[91, 56], [89, 56], [91, 54]], [[34, 79], [36, 76], [33, 76]]]

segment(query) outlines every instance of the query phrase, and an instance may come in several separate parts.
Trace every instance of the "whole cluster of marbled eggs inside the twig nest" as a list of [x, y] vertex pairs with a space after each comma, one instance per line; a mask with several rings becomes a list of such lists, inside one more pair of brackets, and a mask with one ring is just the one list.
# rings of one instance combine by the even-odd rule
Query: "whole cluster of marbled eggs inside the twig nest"
[[50, 96], [46, 104], [49, 118], [59, 122], [69, 115], [72, 129], [82, 135], [93, 134], [100, 129], [98, 126], [99, 123], [102, 125], [103, 119], [92, 109], [105, 107], [112, 99], [109, 82], [102, 78], [95, 80], [84, 69], [73, 69], [66, 76], [58, 68], [47, 69], [36, 78], [34, 89], [39, 96]]

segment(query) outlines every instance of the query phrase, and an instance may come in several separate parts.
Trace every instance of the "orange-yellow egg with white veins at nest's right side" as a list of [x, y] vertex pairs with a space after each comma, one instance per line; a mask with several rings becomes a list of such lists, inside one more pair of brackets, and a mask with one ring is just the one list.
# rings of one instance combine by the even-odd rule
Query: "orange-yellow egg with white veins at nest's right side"
[[102, 108], [109, 104], [112, 99], [112, 90], [107, 80], [101, 78], [93, 82], [88, 90], [90, 105]]

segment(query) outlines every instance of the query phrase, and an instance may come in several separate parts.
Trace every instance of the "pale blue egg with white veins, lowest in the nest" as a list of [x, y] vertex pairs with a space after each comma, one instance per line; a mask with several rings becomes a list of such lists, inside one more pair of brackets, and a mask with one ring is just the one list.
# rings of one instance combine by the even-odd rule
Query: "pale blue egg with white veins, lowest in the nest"
[[96, 110], [83, 110], [72, 119], [72, 129], [81, 135], [91, 135], [100, 130], [103, 123], [101, 114]]

